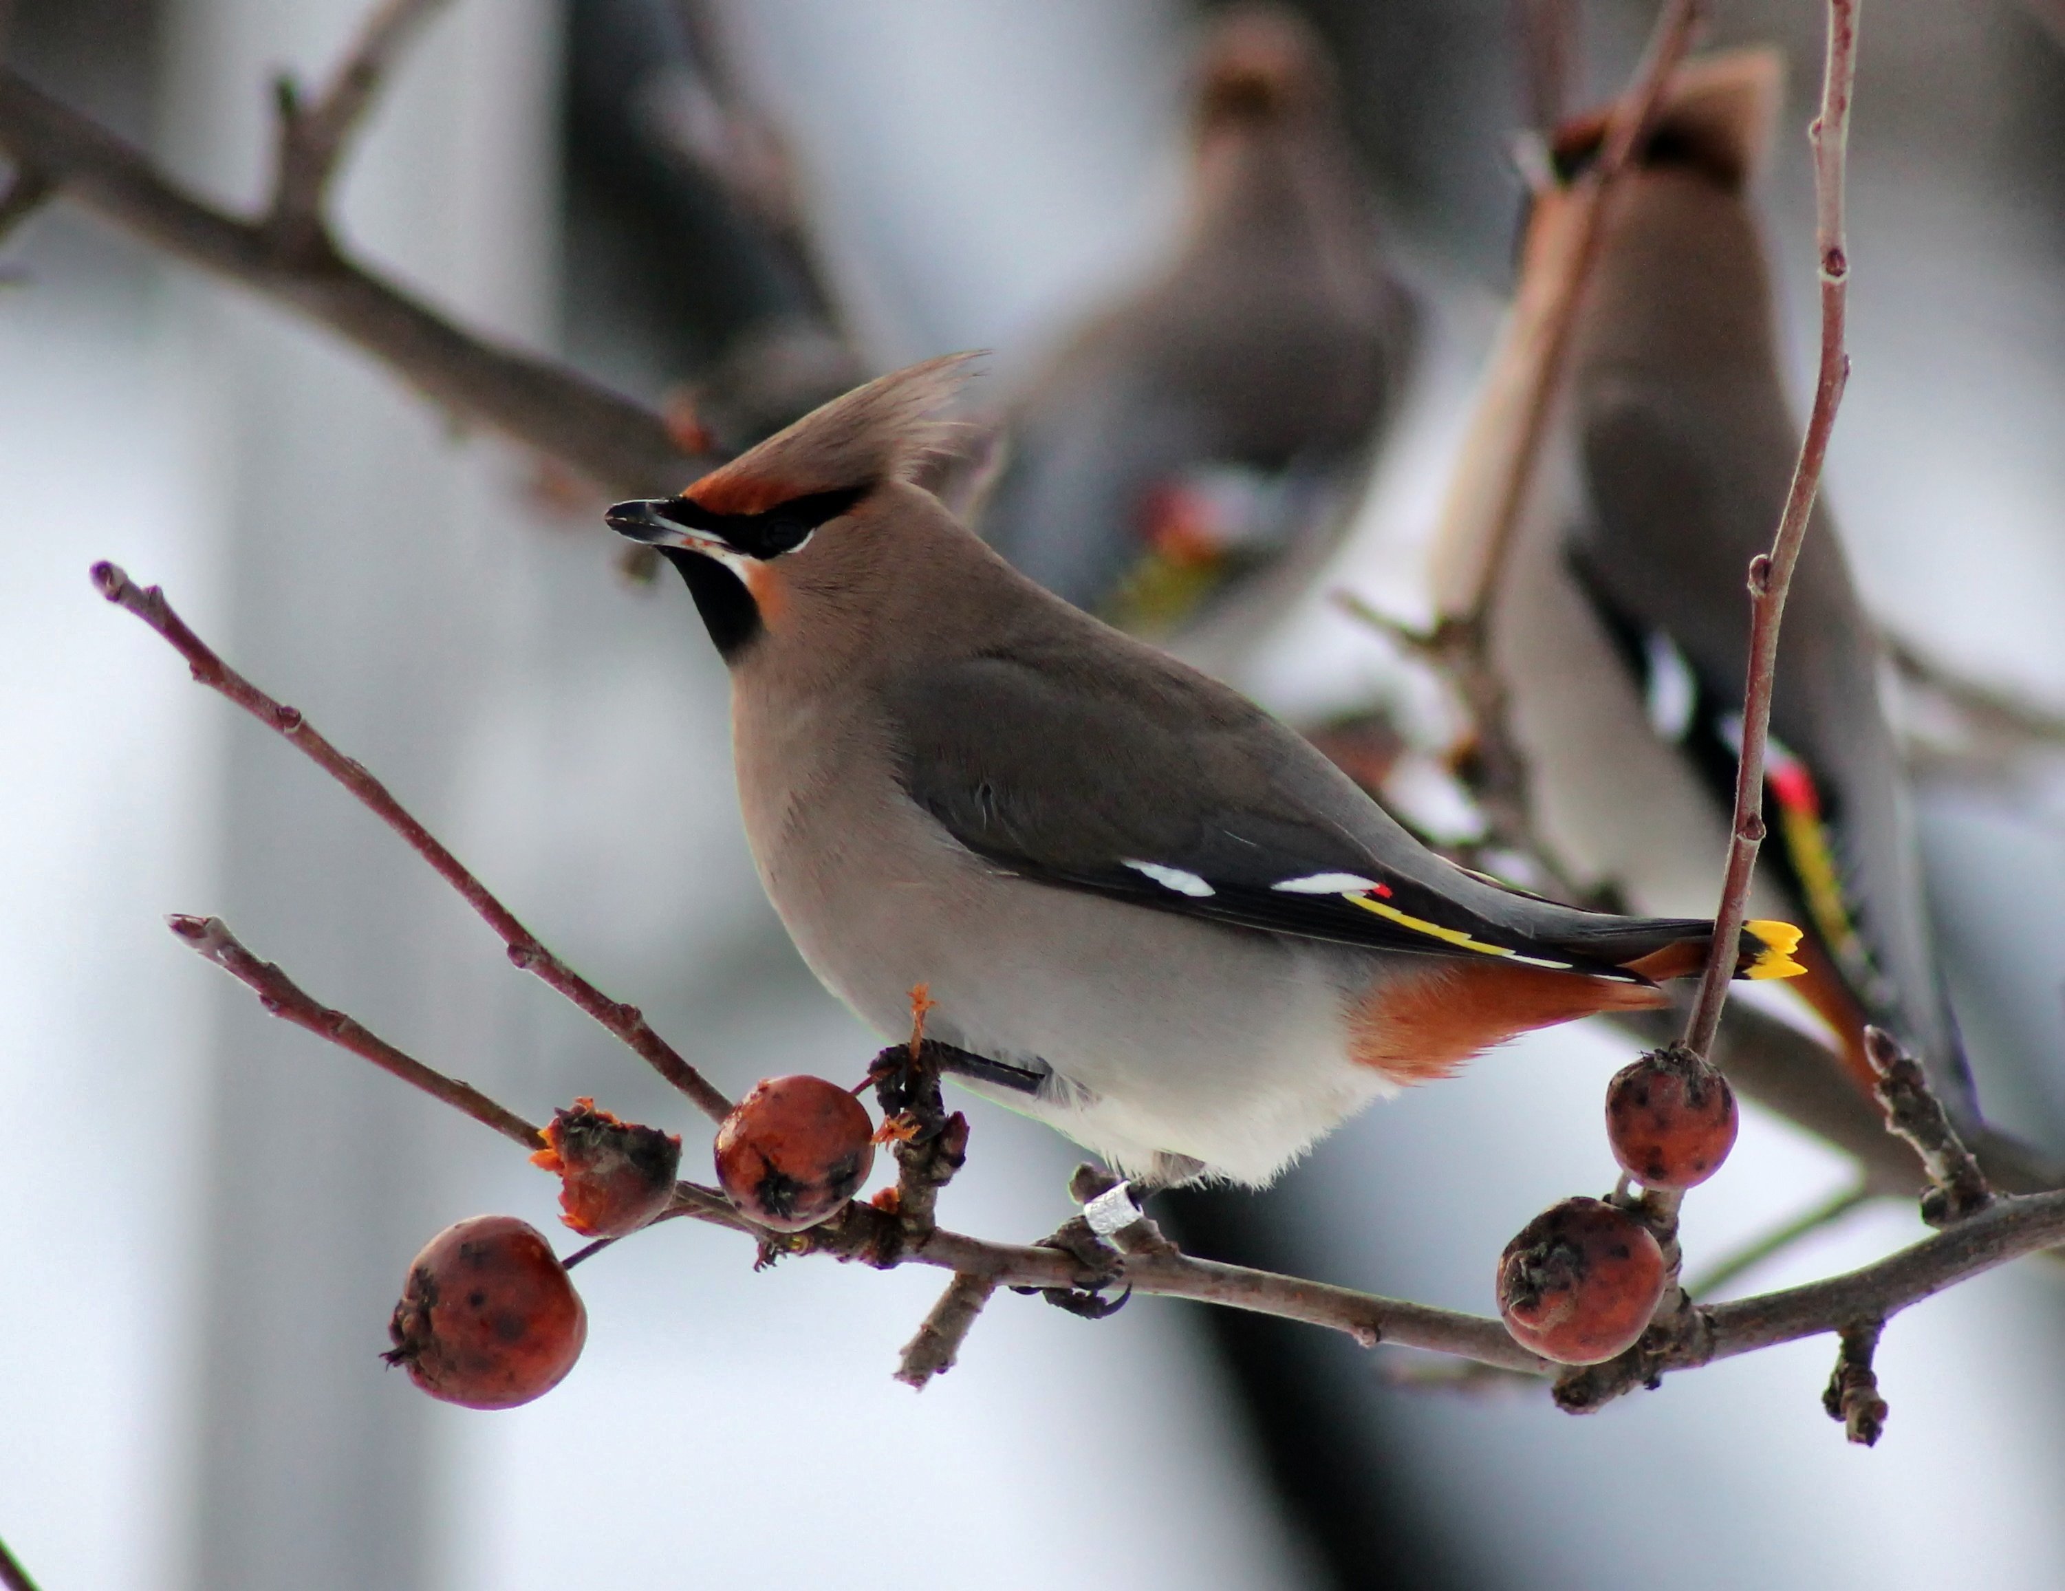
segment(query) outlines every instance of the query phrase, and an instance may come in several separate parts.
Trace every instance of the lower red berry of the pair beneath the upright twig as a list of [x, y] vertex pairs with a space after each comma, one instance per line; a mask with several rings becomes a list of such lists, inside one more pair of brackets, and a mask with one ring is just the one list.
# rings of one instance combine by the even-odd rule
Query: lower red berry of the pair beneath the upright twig
[[1631, 1347], [1664, 1296], [1664, 1254], [1627, 1211], [1565, 1198], [1499, 1256], [1499, 1314], [1514, 1341], [1559, 1364]]

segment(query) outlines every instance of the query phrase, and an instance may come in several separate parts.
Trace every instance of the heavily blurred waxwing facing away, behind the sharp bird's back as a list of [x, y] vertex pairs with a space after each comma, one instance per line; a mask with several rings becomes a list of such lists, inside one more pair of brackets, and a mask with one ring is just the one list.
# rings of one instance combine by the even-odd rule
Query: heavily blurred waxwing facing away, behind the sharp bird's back
[[1251, 632], [1303, 589], [1398, 397], [1412, 324], [1303, 21], [1231, 10], [1192, 116], [1175, 258], [1012, 405], [979, 519], [1049, 591], [1150, 636], [1206, 618]]

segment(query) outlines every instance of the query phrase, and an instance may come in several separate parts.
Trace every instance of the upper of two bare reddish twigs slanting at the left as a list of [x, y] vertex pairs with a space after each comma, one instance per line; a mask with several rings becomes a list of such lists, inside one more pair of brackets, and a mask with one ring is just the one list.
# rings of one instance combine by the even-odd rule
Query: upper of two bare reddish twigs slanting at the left
[[636, 1006], [624, 1006], [595, 988], [589, 979], [568, 967], [547, 950], [537, 934], [525, 928], [516, 913], [489, 895], [465, 864], [458, 862], [409, 810], [388, 793], [388, 787], [374, 779], [359, 762], [339, 752], [324, 740], [299, 709], [273, 700], [242, 674], [223, 663], [221, 657], [182, 620], [165, 593], [153, 587], [138, 587], [114, 564], [95, 564], [93, 583], [107, 601], [126, 607], [153, 630], [157, 630], [173, 651], [178, 651], [194, 678], [211, 690], [227, 696], [262, 725], [299, 750], [318, 769], [328, 773], [351, 796], [355, 796], [376, 818], [401, 835], [403, 843], [423, 857], [432, 870], [444, 878], [479, 917], [502, 936], [508, 957], [516, 967], [537, 973], [547, 986], [564, 994], [609, 1033], [630, 1046], [655, 1072], [688, 1095], [696, 1108], [712, 1122], [725, 1120], [731, 1101], [725, 1099], [704, 1077], [690, 1066], [659, 1033], [653, 1031]]

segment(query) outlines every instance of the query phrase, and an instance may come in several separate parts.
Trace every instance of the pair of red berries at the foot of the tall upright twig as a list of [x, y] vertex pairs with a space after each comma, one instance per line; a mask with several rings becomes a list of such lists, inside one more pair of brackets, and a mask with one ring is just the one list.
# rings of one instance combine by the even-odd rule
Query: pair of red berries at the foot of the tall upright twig
[[[1607, 1141], [1644, 1188], [1706, 1182], [1735, 1147], [1735, 1091], [1685, 1050], [1658, 1050], [1607, 1085]], [[1602, 1198], [1543, 1211], [1499, 1256], [1499, 1316], [1522, 1347], [1557, 1364], [1602, 1364], [1642, 1337], [1664, 1296], [1648, 1225]]]

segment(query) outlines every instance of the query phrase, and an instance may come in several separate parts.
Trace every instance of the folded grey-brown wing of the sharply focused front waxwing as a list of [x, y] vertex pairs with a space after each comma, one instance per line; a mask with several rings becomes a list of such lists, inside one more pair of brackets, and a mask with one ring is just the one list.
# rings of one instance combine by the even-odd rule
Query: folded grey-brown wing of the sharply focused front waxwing
[[1111, 661], [1016, 649], [896, 680], [911, 800], [1022, 878], [1305, 940], [1640, 981], [1615, 963], [1706, 930], [1481, 882], [1233, 692], [1173, 667], [1113, 678]]

